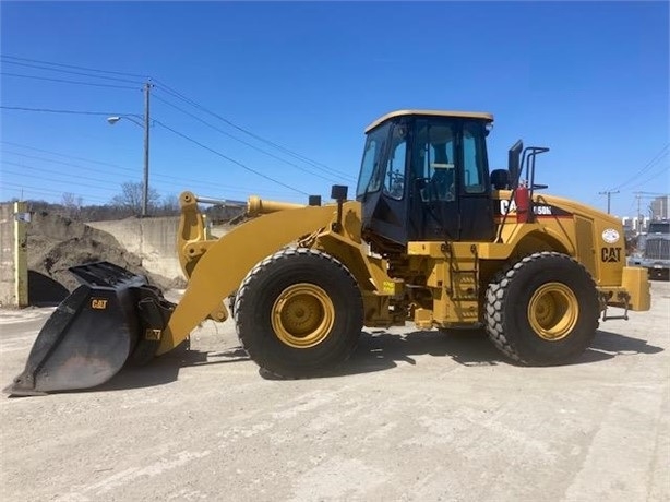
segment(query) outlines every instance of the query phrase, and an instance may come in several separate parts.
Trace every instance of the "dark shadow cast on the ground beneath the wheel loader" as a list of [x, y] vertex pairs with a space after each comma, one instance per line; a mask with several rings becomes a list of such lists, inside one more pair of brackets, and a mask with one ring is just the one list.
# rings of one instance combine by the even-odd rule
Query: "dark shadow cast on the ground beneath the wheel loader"
[[[615, 333], [598, 331], [590, 348], [571, 364], [595, 363], [634, 355], [654, 355], [662, 351], [647, 340], [632, 338]], [[337, 370], [322, 374], [322, 378], [343, 376], [385, 371], [397, 367], [398, 362], [417, 364], [419, 356], [448, 357], [466, 367], [514, 364], [505, 359], [489, 342], [481, 331], [452, 332], [438, 331], [391, 334], [385, 331], [363, 332], [357, 350]], [[115, 391], [163, 385], [174, 382], [179, 370], [187, 367], [228, 364], [249, 361], [241, 347], [223, 351], [191, 350], [188, 344], [156, 358], [142, 368], [125, 368], [108, 383], [92, 391]], [[266, 380], [277, 378], [262, 370], [259, 373]]]

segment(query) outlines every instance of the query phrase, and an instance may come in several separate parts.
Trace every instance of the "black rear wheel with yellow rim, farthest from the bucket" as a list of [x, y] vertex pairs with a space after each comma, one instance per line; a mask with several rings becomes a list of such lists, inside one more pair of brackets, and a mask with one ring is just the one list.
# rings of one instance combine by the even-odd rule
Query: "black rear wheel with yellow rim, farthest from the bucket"
[[557, 252], [534, 253], [502, 271], [487, 289], [486, 327], [517, 362], [550, 366], [586, 350], [600, 308], [588, 271]]

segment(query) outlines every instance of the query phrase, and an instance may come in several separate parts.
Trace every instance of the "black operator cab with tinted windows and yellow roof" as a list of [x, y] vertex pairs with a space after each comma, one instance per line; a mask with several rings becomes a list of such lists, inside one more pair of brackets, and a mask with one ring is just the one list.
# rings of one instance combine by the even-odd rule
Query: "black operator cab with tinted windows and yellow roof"
[[486, 138], [493, 117], [400, 110], [366, 130], [356, 198], [367, 235], [409, 241], [492, 241]]

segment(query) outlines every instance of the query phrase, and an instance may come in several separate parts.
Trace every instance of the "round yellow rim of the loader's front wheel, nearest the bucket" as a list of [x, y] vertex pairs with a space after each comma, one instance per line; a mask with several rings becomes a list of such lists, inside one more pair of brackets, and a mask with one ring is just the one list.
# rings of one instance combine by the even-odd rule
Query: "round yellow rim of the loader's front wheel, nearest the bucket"
[[313, 284], [289, 286], [272, 308], [272, 327], [277, 338], [294, 348], [319, 345], [328, 337], [334, 322], [331, 297]]

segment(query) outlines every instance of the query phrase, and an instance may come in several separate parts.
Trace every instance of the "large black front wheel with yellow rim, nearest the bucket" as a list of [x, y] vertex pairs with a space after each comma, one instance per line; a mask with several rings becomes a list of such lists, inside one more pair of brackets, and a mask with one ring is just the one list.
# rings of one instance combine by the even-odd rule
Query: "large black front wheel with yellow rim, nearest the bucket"
[[285, 249], [259, 263], [235, 299], [240, 342], [263, 370], [313, 376], [347, 360], [363, 323], [362, 298], [333, 256]]

